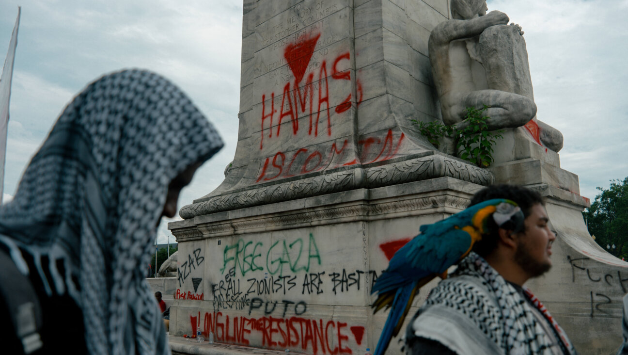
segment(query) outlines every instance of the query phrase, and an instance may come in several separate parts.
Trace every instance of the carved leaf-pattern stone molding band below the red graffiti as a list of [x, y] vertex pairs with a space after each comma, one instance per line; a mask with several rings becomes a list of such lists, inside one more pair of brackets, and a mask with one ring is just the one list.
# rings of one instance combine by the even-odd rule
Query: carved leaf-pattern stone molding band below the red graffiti
[[224, 210], [332, 194], [354, 188], [376, 188], [437, 177], [452, 177], [479, 185], [490, 185], [494, 180], [492, 173], [488, 170], [445, 155], [433, 154], [386, 165], [372, 167], [365, 165], [364, 168], [226, 193], [202, 202], [186, 205], [181, 209], [180, 216], [183, 219], [190, 219]]

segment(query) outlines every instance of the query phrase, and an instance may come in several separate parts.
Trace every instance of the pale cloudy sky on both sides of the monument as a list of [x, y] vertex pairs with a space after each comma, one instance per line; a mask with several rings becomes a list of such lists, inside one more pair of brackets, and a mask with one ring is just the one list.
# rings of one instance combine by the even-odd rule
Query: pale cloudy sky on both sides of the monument
[[[91, 80], [128, 67], [178, 84], [227, 143], [179, 205], [222, 182], [237, 141], [242, 0], [3, 0], [0, 62], [18, 4], [5, 200], [63, 106]], [[538, 117], [565, 136], [561, 167], [580, 177], [581, 194], [593, 199], [595, 187], [627, 177], [628, 0], [491, 0], [492, 9], [525, 31]], [[159, 234], [165, 243], [165, 223]]]

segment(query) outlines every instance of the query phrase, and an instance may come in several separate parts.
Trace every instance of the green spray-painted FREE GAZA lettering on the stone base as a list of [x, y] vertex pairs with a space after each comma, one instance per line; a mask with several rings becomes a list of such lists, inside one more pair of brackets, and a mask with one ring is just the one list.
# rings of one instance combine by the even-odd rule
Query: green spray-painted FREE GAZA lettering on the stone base
[[[257, 253], [257, 248], [263, 248], [264, 245], [261, 242], [257, 242], [254, 246], [252, 246], [252, 244], [252, 241], [244, 243], [244, 240], [239, 239], [237, 243], [225, 246], [220, 273], [224, 273], [225, 270], [230, 268], [235, 268], [237, 272], [244, 276], [249, 271], [264, 270], [262, 266], [256, 264], [256, 258], [261, 258], [262, 256], [262, 253]], [[277, 258], [270, 260], [275, 247], [281, 248], [281, 253], [279, 253]], [[304, 254], [304, 247], [305, 243], [303, 238], [296, 239], [290, 244], [286, 243], [285, 240], [274, 242], [266, 253], [266, 270], [271, 275], [275, 275], [277, 273], [279, 273], [279, 275], [283, 275], [284, 265], [287, 265], [292, 272], [309, 272], [311, 259], [315, 259], [315, 261], [318, 262], [318, 265], [321, 265], [320, 252], [318, 251], [316, 240], [311, 233], [308, 240], [307, 261], [301, 259], [301, 255]], [[279, 251], [278, 249], [274, 250]], [[292, 258], [290, 255], [292, 255]]]

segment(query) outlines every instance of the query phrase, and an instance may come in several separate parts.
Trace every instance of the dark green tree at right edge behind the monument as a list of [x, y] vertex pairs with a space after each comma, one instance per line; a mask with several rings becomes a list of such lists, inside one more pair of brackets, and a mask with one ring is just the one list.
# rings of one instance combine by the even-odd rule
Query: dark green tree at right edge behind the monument
[[582, 212], [589, 234], [595, 236], [595, 241], [604, 250], [617, 258], [628, 259], [628, 177], [610, 180], [608, 189], [597, 189], [600, 194], [591, 207]]

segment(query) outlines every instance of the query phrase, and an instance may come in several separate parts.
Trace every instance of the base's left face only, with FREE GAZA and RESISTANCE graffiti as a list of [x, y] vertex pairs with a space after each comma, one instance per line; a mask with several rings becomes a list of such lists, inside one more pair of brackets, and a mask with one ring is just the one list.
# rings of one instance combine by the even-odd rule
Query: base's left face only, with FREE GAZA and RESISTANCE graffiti
[[[479, 188], [434, 178], [170, 224], [180, 243], [170, 334], [308, 354], [374, 349], [387, 317], [372, 314], [377, 276], [422, 224], [465, 209]], [[387, 354], [400, 353], [393, 339]]]

